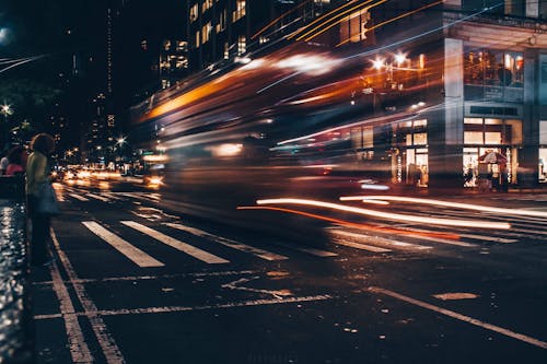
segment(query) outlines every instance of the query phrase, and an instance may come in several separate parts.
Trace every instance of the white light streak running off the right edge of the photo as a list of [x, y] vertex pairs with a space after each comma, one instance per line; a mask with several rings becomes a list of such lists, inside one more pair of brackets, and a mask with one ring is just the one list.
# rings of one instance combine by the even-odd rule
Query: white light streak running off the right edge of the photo
[[442, 201], [442, 200], [420, 199], [420, 198], [415, 198], [415, 197], [403, 197], [403, 196], [346, 196], [346, 197], [340, 197], [340, 201], [359, 201], [359, 200], [383, 200], [383, 201], [387, 200], [387, 201], [399, 201], [399, 202], [410, 202], [410, 203], [423, 203], [423, 204], [443, 206], [446, 208], [476, 210], [476, 211], [480, 211], [480, 212], [496, 212], [496, 213], [521, 215], [521, 216], [547, 218], [547, 212], [545, 212], [545, 211], [493, 208], [493, 207], [474, 204], [474, 203], [449, 202], [449, 201]]

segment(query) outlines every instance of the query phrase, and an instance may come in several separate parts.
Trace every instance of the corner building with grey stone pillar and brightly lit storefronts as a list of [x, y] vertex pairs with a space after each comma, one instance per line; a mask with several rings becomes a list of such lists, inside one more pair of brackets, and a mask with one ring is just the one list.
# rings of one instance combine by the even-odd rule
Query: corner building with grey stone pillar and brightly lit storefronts
[[547, 183], [546, 2], [403, 0], [370, 12], [376, 52], [359, 97], [373, 115], [405, 113], [350, 130], [361, 160], [419, 187]]

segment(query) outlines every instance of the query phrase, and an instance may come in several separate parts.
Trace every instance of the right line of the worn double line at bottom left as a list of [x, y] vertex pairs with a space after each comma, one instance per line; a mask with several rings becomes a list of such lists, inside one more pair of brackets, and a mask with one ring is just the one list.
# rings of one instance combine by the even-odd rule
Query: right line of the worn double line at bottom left
[[[59, 255], [59, 258], [61, 260], [62, 266], [65, 267], [65, 271], [67, 272], [68, 278], [71, 281], [78, 280], [78, 275], [75, 274], [74, 268], [72, 267], [72, 263], [68, 259], [67, 255], [65, 251], [61, 250], [61, 247], [59, 245], [59, 240], [57, 240], [57, 236], [55, 235], [54, 230], [50, 230], [51, 234], [51, 240], [54, 242], [54, 246], [57, 250], [57, 254]], [[97, 315], [97, 307], [88, 297], [88, 293], [85, 292], [85, 287], [83, 284], [74, 283], [72, 282], [72, 287], [74, 289], [74, 293], [82, 304], [82, 307], [84, 309], [85, 315], [88, 316], [91, 328], [93, 329], [93, 332], [95, 333], [95, 337], [97, 339], [97, 342], [101, 347], [101, 350], [106, 359], [107, 364], [125, 364], [126, 361], [124, 359], [124, 355], [121, 355], [121, 352], [119, 351], [118, 345], [116, 344], [116, 341], [114, 338], [110, 336], [108, 332], [108, 329], [106, 328], [106, 325], [103, 321], [103, 318], [101, 315]], [[92, 363], [92, 362], [89, 362]]]

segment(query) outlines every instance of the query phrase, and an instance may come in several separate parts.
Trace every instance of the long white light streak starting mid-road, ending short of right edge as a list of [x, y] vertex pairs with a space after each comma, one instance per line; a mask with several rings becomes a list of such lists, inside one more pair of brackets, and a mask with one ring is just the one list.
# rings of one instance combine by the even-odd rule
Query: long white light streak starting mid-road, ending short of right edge
[[507, 230], [511, 225], [508, 223], [497, 223], [480, 220], [456, 220], [456, 219], [438, 219], [438, 218], [427, 218], [420, 215], [408, 215], [400, 213], [382, 212], [369, 209], [353, 208], [339, 203], [324, 202], [318, 200], [306, 200], [306, 199], [294, 199], [294, 198], [280, 198], [280, 199], [264, 199], [257, 200], [257, 204], [302, 204], [311, 206], [317, 208], [325, 208], [336, 211], [353, 212], [361, 215], [369, 215], [374, 218], [382, 218], [388, 220], [395, 220], [399, 222], [414, 222], [420, 224], [431, 224], [431, 225], [445, 225], [445, 226], [462, 226], [462, 227], [478, 227], [478, 228], [499, 228]]

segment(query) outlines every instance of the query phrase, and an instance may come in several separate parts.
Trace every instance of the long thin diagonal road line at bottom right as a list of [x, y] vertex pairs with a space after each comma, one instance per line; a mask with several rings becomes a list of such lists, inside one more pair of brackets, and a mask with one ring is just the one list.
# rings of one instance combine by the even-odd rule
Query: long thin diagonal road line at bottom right
[[396, 293], [396, 292], [393, 292], [393, 291], [389, 291], [389, 290], [384, 290], [384, 289], [376, 287], [376, 286], [369, 287], [369, 291], [374, 292], [374, 293], [382, 293], [382, 294], [385, 294], [387, 296], [391, 296], [391, 297], [394, 297], [394, 298], [407, 302], [409, 304], [412, 304], [412, 305], [416, 305], [416, 306], [419, 306], [419, 307], [422, 307], [422, 308], [426, 308], [426, 309], [429, 309], [429, 310], [432, 310], [432, 312], [435, 312], [435, 313], [439, 313], [439, 314], [443, 314], [445, 316], [449, 316], [449, 317], [452, 317], [452, 318], [455, 318], [455, 319], [458, 319], [461, 321], [468, 322], [468, 324], [472, 324], [472, 325], [475, 325], [475, 326], [479, 326], [479, 327], [481, 327], [484, 329], [487, 329], [487, 330], [490, 330], [490, 331], [494, 331], [494, 332], [504, 334], [507, 337], [510, 337], [510, 338], [513, 338], [513, 339], [516, 339], [516, 340], [521, 340], [521, 341], [527, 342], [527, 343], [529, 343], [532, 345], [539, 347], [542, 349], [547, 349], [547, 342], [545, 342], [545, 341], [540, 341], [540, 340], [531, 338], [528, 336], [525, 336], [525, 334], [522, 334], [522, 333], [519, 333], [519, 332], [514, 332], [514, 331], [504, 329], [504, 328], [496, 326], [496, 325], [484, 322], [484, 321], [478, 320], [476, 318], [473, 318], [473, 317], [469, 317], [469, 316], [465, 316], [465, 315], [455, 313], [455, 312], [450, 310], [450, 309], [445, 309], [445, 308], [441, 308], [441, 307], [428, 304], [428, 303], [426, 303], [423, 301], [418, 301], [418, 300], [415, 300], [415, 298], [410, 298], [410, 297], [407, 297], [407, 296], [401, 295], [399, 293]]

